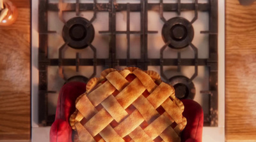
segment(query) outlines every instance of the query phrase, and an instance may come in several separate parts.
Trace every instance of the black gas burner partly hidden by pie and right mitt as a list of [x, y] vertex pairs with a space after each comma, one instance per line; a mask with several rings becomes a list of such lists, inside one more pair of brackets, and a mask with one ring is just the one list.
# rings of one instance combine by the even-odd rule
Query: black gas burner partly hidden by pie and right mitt
[[189, 82], [189, 78], [185, 76], [173, 76], [169, 81], [175, 89], [176, 97], [179, 99], [194, 99], [196, 92], [195, 85], [193, 82]]

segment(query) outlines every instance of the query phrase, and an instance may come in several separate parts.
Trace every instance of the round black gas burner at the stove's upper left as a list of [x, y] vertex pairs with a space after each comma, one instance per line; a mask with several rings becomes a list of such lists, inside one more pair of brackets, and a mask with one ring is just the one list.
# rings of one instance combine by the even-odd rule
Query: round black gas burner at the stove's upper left
[[92, 43], [94, 38], [93, 25], [85, 18], [75, 17], [68, 20], [64, 25], [62, 37], [68, 46], [75, 49], [83, 49]]

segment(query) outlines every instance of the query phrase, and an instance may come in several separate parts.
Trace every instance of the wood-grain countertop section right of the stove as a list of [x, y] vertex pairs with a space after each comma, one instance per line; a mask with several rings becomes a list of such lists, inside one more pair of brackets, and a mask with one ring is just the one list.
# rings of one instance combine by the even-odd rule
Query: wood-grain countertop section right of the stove
[[226, 1], [226, 141], [256, 141], [256, 3]]

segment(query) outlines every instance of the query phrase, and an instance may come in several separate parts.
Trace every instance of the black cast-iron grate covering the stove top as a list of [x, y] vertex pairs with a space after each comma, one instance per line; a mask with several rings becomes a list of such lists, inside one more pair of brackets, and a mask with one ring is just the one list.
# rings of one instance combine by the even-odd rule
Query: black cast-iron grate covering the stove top
[[[205, 115], [204, 125], [205, 126], [218, 126], [218, 0], [209, 0], [208, 3], [181, 3], [180, 0], [177, 3], [148, 3], [147, 0], [140, 0], [140, 3], [116, 3], [115, 0], [109, 0], [108, 3], [97, 3], [97, 0], [93, 0], [93, 3], [63, 3], [63, 0], [59, 0], [59, 3], [49, 3], [48, 0], [39, 0], [39, 51], [38, 51], [38, 69], [39, 69], [39, 122], [41, 125], [51, 125], [54, 122], [54, 116], [49, 115], [47, 111], [47, 96], [51, 93], [56, 93], [56, 91], [47, 89], [47, 67], [48, 66], [58, 66], [59, 75], [66, 82], [71, 82], [72, 80], [80, 80], [82, 82], [87, 82], [90, 78], [96, 75], [96, 67], [104, 66], [116, 67], [116, 66], [136, 66], [141, 69], [148, 69], [148, 66], [160, 66], [161, 76], [166, 82], [172, 82], [172, 78], [167, 78], [163, 73], [163, 66], [177, 66], [178, 72], [180, 71], [180, 66], [195, 66], [195, 73], [191, 78], [179, 80], [184, 82], [187, 80], [189, 86], [193, 87], [192, 81], [197, 76], [198, 66], [209, 67], [209, 90], [201, 90], [202, 94], [209, 96], [209, 115]], [[164, 11], [176, 11], [178, 15], [182, 11], [195, 11], [195, 17], [186, 26], [192, 26], [193, 22], [198, 18], [198, 11], [209, 11], [209, 31], [201, 31], [201, 34], [209, 34], [209, 59], [198, 59], [198, 51], [195, 45], [191, 43], [192, 40], [187, 40], [188, 45], [193, 49], [195, 53], [194, 59], [182, 59], [180, 57], [180, 52], [178, 52], [177, 59], [164, 59], [164, 50], [172, 43], [169, 39], [165, 41], [165, 45], [162, 45], [160, 59], [148, 59], [147, 55], [147, 36], [148, 34], [156, 34], [157, 31], [148, 30], [148, 10], [159, 11], [159, 17], [163, 20], [164, 24], [170, 25], [170, 22], [166, 20], [163, 16]], [[76, 53], [76, 59], [63, 59], [62, 53], [65, 48], [68, 48], [68, 43], [65, 43], [59, 49], [58, 59], [48, 58], [48, 47], [47, 38], [48, 34], [56, 34], [56, 31], [49, 31], [47, 11], [56, 11], [59, 13], [59, 18], [65, 24], [67, 23], [63, 18], [63, 12], [74, 11], [76, 16], [79, 16], [80, 11], [93, 11], [93, 17], [85, 25], [89, 27], [93, 20], [97, 18], [97, 12], [105, 11], [109, 13], [109, 30], [100, 31], [100, 34], [108, 34], [110, 38], [109, 41], [109, 57], [108, 59], [98, 59], [97, 50], [89, 41], [86, 43], [88, 47], [93, 50], [92, 59], [81, 59], [79, 53]], [[126, 31], [116, 31], [116, 12], [126, 11], [127, 12], [127, 29]], [[130, 13], [132, 11], [137, 11], [141, 13], [141, 31], [131, 31], [130, 29]], [[182, 25], [183, 26], [183, 25]], [[177, 30], [184, 30], [184, 27], [178, 26]], [[185, 26], [185, 27], [186, 27]], [[182, 29], [183, 28], [183, 29]], [[186, 31], [187, 29], [185, 29]], [[174, 32], [173, 32], [174, 33]], [[131, 59], [130, 53], [127, 52], [127, 59], [116, 59], [116, 34], [126, 34], [127, 36], [127, 51], [131, 48], [130, 46], [130, 36], [131, 34], [140, 35], [141, 43], [141, 58]], [[182, 35], [175, 36], [178, 40], [182, 39]], [[161, 46], [161, 45], [160, 45]], [[93, 73], [90, 78], [84, 76], [73, 76], [72, 78], [66, 78], [64, 75], [63, 66], [76, 66], [76, 71], [79, 71], [79, 66], [93, 66]], [[194, 94], [195, 95], [195, 94]], [[193, 98], [191, 98], [193, 99]]]

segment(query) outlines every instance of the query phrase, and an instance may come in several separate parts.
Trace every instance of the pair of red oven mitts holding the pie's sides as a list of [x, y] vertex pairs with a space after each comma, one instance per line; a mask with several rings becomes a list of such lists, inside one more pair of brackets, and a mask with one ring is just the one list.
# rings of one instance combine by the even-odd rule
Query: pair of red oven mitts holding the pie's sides
[[[76, 98], [86, 92], [86, 84], [70, 82], [60, 90], [55, 121], [51, 126], [51, 142], [72, 142], [72, 128], [69, 117], [76, 110]], [[184, 117], [188, 124], [181, 134], [182, 142], [201, 142], [204, 125], [204, 113], [200, 104], [190, 99], [181, 100], [184, 104]]]

